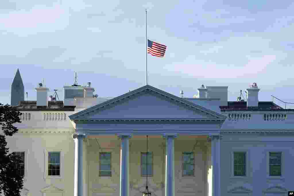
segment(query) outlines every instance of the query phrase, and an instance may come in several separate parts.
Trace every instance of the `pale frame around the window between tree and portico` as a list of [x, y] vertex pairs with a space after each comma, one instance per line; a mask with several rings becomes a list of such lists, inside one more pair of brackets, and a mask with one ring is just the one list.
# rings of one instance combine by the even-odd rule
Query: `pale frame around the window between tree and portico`
[[[52, 152], [58, 152], [60, 153], [60, 175], [59, 176], [52, 176], [48, 175], [48, 153]], [[64, 153], [62, 150], [57, 150], [57, 149], [44, 149], [44, 180], [46, 179], [64, 179]]]

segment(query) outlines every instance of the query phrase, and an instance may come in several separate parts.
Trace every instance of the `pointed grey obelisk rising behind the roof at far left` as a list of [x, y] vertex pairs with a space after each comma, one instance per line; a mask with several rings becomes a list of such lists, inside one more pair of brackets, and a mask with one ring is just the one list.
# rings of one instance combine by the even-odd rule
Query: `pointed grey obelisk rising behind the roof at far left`
[[24, 83], [22, 82], [19, 69], [17, 69], [11, 84], [11, 105], [19, 105], [20, 101], [24, 101]]

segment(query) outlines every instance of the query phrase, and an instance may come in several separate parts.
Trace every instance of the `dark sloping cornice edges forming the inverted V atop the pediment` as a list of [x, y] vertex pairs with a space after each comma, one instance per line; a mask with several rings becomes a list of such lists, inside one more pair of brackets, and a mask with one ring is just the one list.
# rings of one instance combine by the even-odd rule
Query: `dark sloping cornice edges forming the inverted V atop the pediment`
[[180, 97], [174, 96], [174, 95], [172, 95], [170, 93], [167, 93], [165, 91], [162, 91], [162, 90], [160, 90], [158, 88], [155, 88], [155, 87], [149, 86], [149, 85], [143, 86], [143, 87], [138, 88], [138, 89], [136, 89], [134, 91], [128, 92], [126, 94], [123, 94], [123, 95], [118, 96], [116, 98], [113, 98], [111, 100], [105, 101], [103, 103], [100, 103], [98, 105], [95, 105], [95, 106], [93, 106], [91, 108], [88, 108], [86, 110], [83, 110], [83, 111], [80, 111], [80, 112], [75, 113], [73, 115], [70, 115], [69, 118], [71, 120], [79, 120], [79, 119], [83, 118], [83, 116], [86, 115], [86, 114], [90, 114], [90, 113], [93, 113], [95, 111], [98, 111], [100, 108], [105, 108], [108, 105], [117, 104], [118, 102], [120, 102], [121, 100], [123, 100], [125, 98], [129, 98], [130, 96], [134, 96], [134, 95], [136, 95], [138, 93], [141, 93], [141, 92], [144, 92], [144, 91], [158, 93], [161, 96], [164, 96], [164, 97], [166, 97], [167, 99], [169, 99], [171, 101], [175, 101], [175, 102], [181, 103], [183, 105], [188, 106], [189, 108], [194, 108], [196, 110], [200, 110], [200, 111], [202, 111], [204, 113], [207, 113], [209, 115], [212, 115], [216, 119], [223, 119], [223, 120], [225, 120], [225, 118], [226, 118], [226, 116], [224, 116], [224, 115], [222, 115], [220, 113], [216, 113], [216, 112], [214, 112], [212, 110], [209, 110], [209, 109], [204, 108], [204, 107], [202, 107], [200, 105], [197, 105], [195, 103], [192, 103], [192, 102], [190, 102], [188, 100], [185, 100], [185, 99], [182, 99]]

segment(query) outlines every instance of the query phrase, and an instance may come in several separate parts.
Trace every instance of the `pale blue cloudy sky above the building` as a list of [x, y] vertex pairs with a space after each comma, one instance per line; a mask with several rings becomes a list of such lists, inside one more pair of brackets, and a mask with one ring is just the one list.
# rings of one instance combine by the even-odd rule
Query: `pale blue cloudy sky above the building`
[[[50, 3], [49, 3], [50, 2]], [[294, 102], [292, 1], [0, 2], [0, 102], [10, 104], [19, 68], [29, 100], [42, 78], [61, 89], [90, 81], [115, 97], [145, 85], [145, 11], [148, 38], [167, 46], [148, 55], [149, 84], [185, 97], [197, 88], [229, 86], [229, 100], [253, 82], [259, 100]], [[244, 94], [245, 96], [245, 94]]]

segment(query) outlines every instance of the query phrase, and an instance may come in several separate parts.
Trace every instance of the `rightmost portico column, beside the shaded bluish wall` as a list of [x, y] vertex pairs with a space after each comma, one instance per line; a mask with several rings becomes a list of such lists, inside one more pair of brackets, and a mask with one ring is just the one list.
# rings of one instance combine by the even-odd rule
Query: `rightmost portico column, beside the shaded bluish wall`
[[212, 196], [220, 196], [220, 135], [211, 135]]

